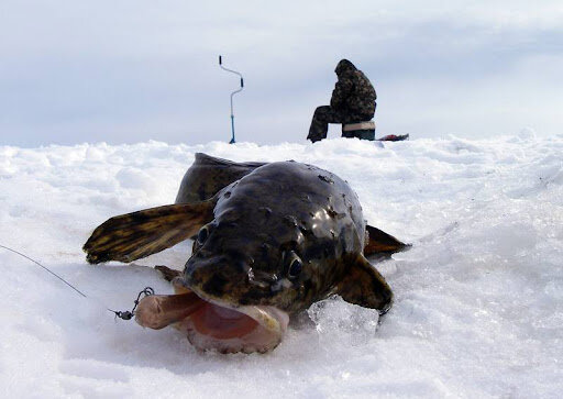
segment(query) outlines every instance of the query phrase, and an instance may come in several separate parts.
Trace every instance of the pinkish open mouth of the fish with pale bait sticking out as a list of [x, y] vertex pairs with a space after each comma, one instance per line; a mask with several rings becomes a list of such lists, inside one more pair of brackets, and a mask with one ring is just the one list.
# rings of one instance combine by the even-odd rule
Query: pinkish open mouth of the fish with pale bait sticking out
[[289, 322], [289, 315], [275, 307], [232, 306], [203, 299], [186, 288], [177, 291], [143, 298], [135, 311], [136, 322], [154, 330], [174, 325], [197, 348], [221, 353], [272, 351]]

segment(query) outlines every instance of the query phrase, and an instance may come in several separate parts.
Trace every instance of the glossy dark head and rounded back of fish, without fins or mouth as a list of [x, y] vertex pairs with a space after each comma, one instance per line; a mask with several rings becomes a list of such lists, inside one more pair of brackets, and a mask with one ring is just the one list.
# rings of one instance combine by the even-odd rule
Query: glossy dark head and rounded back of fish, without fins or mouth
[[316, 166], [266, 164], [217, 196], [178, 281], [205, 298], [303, 310], [334, 293], [363, 252], [357, 196]]

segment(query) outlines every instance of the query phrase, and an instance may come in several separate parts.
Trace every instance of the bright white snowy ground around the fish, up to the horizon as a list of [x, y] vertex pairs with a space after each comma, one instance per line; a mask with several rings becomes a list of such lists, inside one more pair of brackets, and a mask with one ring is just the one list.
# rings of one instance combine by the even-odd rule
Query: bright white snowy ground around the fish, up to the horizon
[[[170, 203], [196, 152], [296, 159], [349, 180], [366, 219], [411, 251], [378, 265], [395, 290], [373, 311], [310, 310], [267, 355], [198, 353], [173, 329], [114, 321], [156, 273], [89, 266], [81, 245], [111, 215]], [[0, 147], [0, 244], [65, 276], [84, 299], [0, 248], [0, 396], [561, 397], [563, 135], [355, 140], [257, 146], [150, 142]], [[181, 268], [189, 243], [139, 262]]]

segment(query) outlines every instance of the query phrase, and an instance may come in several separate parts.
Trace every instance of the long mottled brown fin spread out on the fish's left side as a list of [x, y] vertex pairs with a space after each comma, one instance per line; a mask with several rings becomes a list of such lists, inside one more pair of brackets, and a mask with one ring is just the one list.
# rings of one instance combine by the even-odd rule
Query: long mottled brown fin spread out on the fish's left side
[[214, 199], [145, 209], [100, 224], [82, 250], [87, 261], [129, 263], [166, 250], [195, 235], [213, 219]]

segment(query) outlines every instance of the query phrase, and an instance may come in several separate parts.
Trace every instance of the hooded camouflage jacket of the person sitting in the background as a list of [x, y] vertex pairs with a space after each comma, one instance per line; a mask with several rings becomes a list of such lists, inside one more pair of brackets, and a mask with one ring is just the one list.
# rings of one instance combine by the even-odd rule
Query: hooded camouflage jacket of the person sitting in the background
[[339, 80], [330, 106], [338, 111], [373, 118], [377, 95], [369, 79], [347, 59], [336, 66]]

